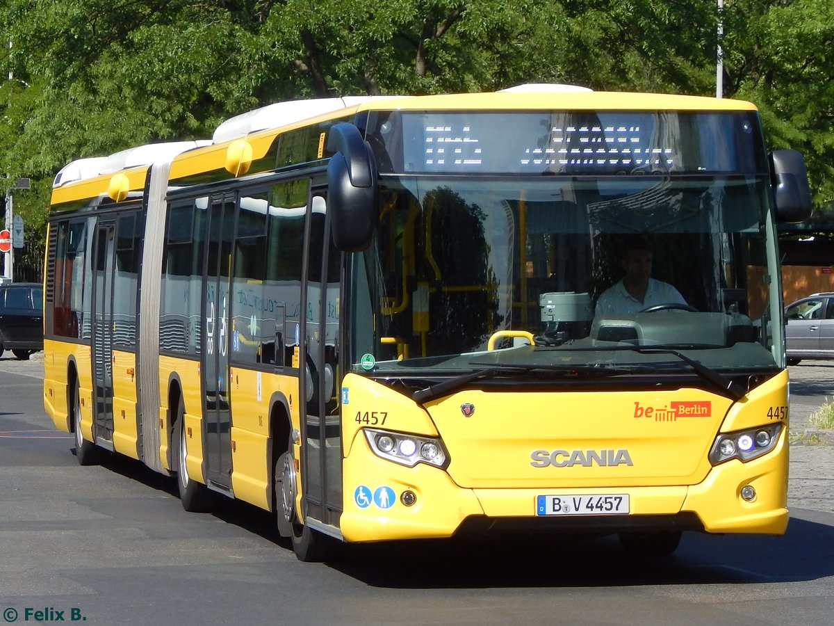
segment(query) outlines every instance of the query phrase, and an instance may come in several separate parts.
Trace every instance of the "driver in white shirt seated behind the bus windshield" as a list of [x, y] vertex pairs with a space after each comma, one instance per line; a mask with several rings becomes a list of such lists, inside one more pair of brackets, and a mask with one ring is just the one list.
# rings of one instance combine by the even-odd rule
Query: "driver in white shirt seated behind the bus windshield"
[[631, 315], [664, 304], [686, 305], [680, 291], [651, 277], [651, 248], [646, 240], [626, 244], [621, 264], [625, 275], [596, 300], [596, 316]]

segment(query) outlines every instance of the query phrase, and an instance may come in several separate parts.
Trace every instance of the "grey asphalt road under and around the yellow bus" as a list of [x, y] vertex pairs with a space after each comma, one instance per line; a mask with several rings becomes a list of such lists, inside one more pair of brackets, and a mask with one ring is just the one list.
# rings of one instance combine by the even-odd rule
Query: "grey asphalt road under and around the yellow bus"
[[[834, 615], [831, 493], [818, 506], [791, 504], [781, 538], [689, 534], [675, 557], [649, 563], [610, 538], [379, 545], [299, 563], [253, 507], [187, 513], [173, 482], [137, 462], [78, 466], [72, 438], [44, 416], [33, 359], [0, 359], [8, 623], [813, 624]], [[822, 381], [800, 389], [794, 369], [791, 411], [831, 395]], [[825, 450], [797, 452], [791, 472], [796, 458], [809, 481], [820, 478], [815, 459], [834, 466], [817, 454]]]

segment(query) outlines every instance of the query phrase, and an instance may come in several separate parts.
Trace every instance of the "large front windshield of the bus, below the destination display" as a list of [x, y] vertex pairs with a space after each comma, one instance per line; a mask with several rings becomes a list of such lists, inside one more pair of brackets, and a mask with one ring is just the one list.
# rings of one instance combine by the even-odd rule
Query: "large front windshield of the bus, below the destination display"
[[[381, 181], [379, 230], [353, 263], [354, 371], [682, 366], [629, 346], [728, 371], [777, 365], [766, 174]], [[601, 296], [636, 241], [670, 301], [618, 310]]]

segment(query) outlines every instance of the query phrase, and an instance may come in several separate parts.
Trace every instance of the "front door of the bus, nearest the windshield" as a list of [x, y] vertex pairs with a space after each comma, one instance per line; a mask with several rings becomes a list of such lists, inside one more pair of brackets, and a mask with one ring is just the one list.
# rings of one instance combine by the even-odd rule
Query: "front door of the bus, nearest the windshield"
[[339, 526], [342, 512], [342, 442], [337, 401], [339, 357], [339, 251], [325, 223], [324, 196], [307, 208], [304, 310], [299, 373], [302, 411], [304, 514]]

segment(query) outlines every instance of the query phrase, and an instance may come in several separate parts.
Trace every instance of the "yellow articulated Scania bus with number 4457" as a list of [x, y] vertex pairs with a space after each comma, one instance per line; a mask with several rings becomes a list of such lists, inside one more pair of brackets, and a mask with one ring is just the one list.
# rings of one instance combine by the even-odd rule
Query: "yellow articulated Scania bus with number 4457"
[[[278, 103], [55, 179], [43, 397], [104, 451], [351, 543], [786, 528], [751, 103], [532, 86]], [[211, 496], [211, 497], [209, 497]]]

